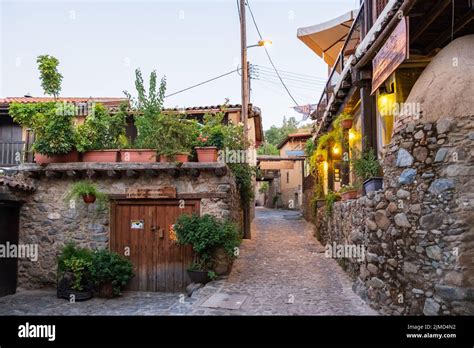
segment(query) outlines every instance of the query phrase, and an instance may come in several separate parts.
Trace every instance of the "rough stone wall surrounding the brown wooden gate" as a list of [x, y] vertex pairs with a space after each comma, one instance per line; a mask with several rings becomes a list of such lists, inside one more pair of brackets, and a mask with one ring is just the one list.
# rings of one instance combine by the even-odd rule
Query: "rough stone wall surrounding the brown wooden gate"
[[[207, 196], [201, 199], [202, 215], [230, 218], [241, 226], [240, 200], [230, 171], [224, 176], [216, 176], [212, 170], [201, 171], [199, 177], [188, 174], [185, 172], [174, 177], [163, 171], [158, 176], [143, 173], [138, 178], [126, 175], [108, 178], [103, 175], [93, 181], [103, 192], [112, 195], [125, 194], [128, 188], [173, 186], [177, 189], [178, 198], [193, 194]], [[109, 212], [97, 212], [95, 204], [86, 205], [82, 201], [77, 202], [75, 207], [66, 203], [64, 197], [73, 182], [74, 179], [66, 173], [54, 179], [41, 176], [35, 180], [36, 191], [23, 197], [26, 203], [20, 212], [20, 244], [38, 244], [39, 258], [36, 262], [20, 259], [20, 288], [55, 284], [56, 256], [68, 241], [93, 249], [108, 248]]]

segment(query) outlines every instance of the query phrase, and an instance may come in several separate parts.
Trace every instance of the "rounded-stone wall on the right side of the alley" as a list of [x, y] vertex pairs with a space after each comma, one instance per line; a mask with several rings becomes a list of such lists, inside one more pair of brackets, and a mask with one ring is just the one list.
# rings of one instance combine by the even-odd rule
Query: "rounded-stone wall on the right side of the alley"
[[384, 314], [474, 314], [474, 117], [410, 123], [383, 162], [384, 191], [320, 208], [316, 237], [363, 245], [340, 258]]

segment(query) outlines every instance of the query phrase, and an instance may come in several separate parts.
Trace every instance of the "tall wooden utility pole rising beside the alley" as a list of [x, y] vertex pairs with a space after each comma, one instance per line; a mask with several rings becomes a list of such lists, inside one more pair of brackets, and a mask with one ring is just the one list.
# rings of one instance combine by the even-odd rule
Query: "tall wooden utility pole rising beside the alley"
[[[242, 115], [241, 120], [244, 125], [244, 139], [248, 141], [248, 117], [249, 117], [249, 104], [250, 104], [250, 91], [249, 91], [249, 68], [247, 60], [247, 21], [245, 18], [245, 1], [240, 0], [240, 43], [242, 52]], [[250, 227], [250, 203], [243, 208], [244, 215], [244, 238], [251, 238], [251, 227]]]

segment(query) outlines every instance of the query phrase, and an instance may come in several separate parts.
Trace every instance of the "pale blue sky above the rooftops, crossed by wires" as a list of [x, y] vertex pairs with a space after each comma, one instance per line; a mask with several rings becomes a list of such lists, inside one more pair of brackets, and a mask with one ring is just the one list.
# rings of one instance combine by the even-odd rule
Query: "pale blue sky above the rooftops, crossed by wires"
[[[327, 67], [296, 37], [314, 25], [357, 7], [359, 0], [250, 0], [270, 53], [280, 70], [327, 76]], [[36, 57], [57, 57], [62, 96], [123, 96], [134, 91], [134, 70], [156, 69], [168, 93], [226, 73], [240, 63], [236, 0], [4, 1], [0, 0], [0, 96], [42, 96]], [[248, 43], [258, 36], [248, 15]], [[270, 67], [262, 48], [249, 50], [253, 64]], [[261, 74], [263, 78], [264, 74]], [[251, 101], [261, 107], [264, 128], [295, 116], [277, 80], [252, 80]], [[268, 81], [269, 79], [269, 81]], [[237, 74], [167, 98], [167, 107], [240, 103]], [[273, 83], [272, 83], [273, 82]], [[320, 84], [287, 80], [300, 104], [316, 103]], [[299, 117], [299, 116], [298, 116]]]

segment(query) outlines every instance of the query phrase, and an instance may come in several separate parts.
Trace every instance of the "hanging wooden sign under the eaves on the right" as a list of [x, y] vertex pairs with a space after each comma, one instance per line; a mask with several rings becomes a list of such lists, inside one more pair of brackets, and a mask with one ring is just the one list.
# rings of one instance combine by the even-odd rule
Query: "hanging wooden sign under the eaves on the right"
[[403, 17], [372, 60], [372, 94], [410, 56], [408, 18]]

